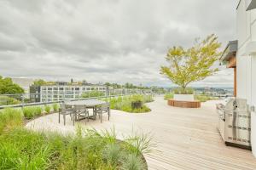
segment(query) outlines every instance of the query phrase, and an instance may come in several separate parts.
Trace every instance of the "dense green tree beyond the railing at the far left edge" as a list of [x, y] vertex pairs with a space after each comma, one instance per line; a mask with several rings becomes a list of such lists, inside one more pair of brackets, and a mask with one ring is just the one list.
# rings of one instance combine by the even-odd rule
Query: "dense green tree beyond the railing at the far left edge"
[[0, 76], [0, 94], [24, 94], [24, 89], [15, 84], [11, 78]]

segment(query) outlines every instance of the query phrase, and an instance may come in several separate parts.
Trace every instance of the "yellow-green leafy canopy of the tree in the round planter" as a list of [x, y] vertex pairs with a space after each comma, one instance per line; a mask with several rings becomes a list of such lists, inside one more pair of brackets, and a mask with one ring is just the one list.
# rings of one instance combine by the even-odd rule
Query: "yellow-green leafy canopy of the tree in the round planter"
[[201, 81], [218, 71], [212, 65], [219, 59], [220, 45], [218, 37], [212, 34], [201, 42], [196, 42], [194, 47], [170, 48], [166, 55], [169, 65], [161, 66], [160, 73], [184, 91], [190, 82]]

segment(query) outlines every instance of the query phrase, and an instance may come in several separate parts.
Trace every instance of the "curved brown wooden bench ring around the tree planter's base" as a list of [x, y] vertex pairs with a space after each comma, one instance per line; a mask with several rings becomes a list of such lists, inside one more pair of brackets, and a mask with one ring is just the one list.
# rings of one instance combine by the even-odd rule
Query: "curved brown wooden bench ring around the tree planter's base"
[[168, 105], [172, 105], [174, 107], [183, 107], [183, 108], [200, 108], [201, 102], [198, 100], [181, 101], [181, 100], [175, 100], [175, 99], [168, 99]]

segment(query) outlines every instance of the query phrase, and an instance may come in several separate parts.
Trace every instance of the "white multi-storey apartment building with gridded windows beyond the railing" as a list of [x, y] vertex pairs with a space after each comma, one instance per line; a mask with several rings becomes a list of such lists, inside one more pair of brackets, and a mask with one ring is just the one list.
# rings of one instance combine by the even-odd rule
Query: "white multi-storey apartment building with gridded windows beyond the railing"
[[106, 94], [107, 88], [102, 85], [47, 85], [40, 87], [40, 101], [51, 102], [66, 99], [77, 99], [81, 94], [99, 91]]

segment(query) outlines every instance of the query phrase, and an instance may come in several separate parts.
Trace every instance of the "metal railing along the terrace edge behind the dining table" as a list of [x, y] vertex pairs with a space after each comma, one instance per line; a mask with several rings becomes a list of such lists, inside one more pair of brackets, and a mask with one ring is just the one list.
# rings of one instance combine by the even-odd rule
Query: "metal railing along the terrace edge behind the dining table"
[[79, 99], [99, 99], [99, 98], [112, 98], [119, 96], [127, 96], [133, 94], [154, 94], [150, 90], [140, 89], [112, 89], [98, 96], [87, 95], [83, 97], [82, 94], [74, 94], [72, 98], [59, 98], [59, 94], [55, 98], [55, 94], [46, 94], [46, 98], [42, 99], [43, 94], [0, 94], [0, 109], [5, 107], [23, 107], [26, 105], [47, 105], [53, 103], [60, 103], [65, 100], [79, 100]]

